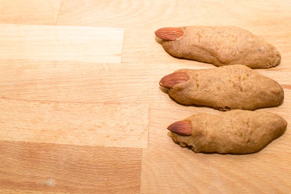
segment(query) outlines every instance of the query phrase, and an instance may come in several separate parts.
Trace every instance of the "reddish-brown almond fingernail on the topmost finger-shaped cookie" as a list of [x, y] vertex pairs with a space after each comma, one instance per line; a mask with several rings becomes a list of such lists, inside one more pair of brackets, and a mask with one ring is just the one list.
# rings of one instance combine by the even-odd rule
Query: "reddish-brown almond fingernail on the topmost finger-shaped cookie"
[[164, 40], [176, 40], [183, 36], [184, 32], [179, 28], [161, 28], [155, 32], [156, 36]]

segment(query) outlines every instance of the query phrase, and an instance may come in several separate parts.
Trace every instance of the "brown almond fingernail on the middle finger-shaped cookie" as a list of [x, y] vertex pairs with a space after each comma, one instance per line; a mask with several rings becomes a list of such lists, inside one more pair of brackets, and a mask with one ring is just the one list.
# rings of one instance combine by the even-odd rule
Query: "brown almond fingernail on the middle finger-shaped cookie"
[[185, 72], [175, 72], [163, 77], [160, 81], [160, 85], [164, 88], [173, 88], [176, 84], [186, 82], [190, 80], [189, 76]]

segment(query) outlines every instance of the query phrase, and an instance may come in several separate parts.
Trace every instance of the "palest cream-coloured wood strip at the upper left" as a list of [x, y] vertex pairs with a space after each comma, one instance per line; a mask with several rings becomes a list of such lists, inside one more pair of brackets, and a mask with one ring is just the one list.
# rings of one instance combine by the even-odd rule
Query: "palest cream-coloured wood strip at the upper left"
[[121, 28], [0, 25], [0, 59], [120, 63]]

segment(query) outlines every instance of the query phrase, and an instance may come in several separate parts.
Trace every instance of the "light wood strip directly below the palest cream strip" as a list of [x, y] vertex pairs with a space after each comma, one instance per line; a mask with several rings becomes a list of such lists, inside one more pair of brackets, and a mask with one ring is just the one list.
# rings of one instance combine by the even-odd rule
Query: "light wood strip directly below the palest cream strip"
[[146, 66], [135, 68], [136, 64], [7, 59], [0, 61], [0, 97], [148, 106], [149, 71]]

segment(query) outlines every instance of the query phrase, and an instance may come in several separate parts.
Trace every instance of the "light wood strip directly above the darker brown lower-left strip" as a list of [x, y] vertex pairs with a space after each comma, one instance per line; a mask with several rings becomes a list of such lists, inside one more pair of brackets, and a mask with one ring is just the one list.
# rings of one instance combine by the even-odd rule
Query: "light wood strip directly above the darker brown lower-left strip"
[[[0, 99], [0, 139], [147, 147], [148, 107]], [[131, 120], [134, 117], [133, 120]]]

